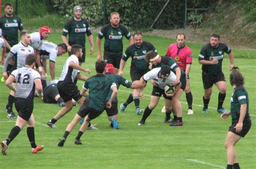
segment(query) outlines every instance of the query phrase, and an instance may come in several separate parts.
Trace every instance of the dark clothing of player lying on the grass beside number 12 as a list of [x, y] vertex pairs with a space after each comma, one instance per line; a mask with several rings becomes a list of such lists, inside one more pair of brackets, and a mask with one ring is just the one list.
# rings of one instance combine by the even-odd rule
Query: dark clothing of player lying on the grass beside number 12
[[55, 97], [59, 94], [56, 86], [47, 86], [43, 92], [44, 103], [57, 103]]

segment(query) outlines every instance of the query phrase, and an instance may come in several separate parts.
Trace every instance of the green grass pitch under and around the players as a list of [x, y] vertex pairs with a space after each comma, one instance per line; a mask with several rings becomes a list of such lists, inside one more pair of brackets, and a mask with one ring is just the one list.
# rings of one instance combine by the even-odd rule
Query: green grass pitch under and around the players
[[[49, 40], [56, 44], [61, 43], [60, 35], [60, 32], [51, 33]], [[144, 40], [153, 43], [160, 55], [164, 55], [169, 44], [174, 42], [173, 39], [153, 36], [145, 36]], [[60, 119], [56, 123], [56, 129], [50, 129], [46, 123], [58, 112], [60, 107], [54, 104], [45, 104], [41, 99], [35, 98], [33, 114], [36, 120], [36, 143], [44, 145], [45, 148], [38, 154], [32, 154], [26, 130], [23, 130], [9, 145], [8, 156], [0, 156], [0, 168], [225, 168], [224, 140], [231, 124], [231, 118], [225, 121], [220, 119], [220, 114], [216, 111], [218, 90], [215, 86], [209, 104], [209, 112], [201, 113], [204, 90], [201, 82], [201, 65], [197, 60], [203, 44], [187, 43], [187, 45], [193, 51], [190, 79], [194, 114], [190, 116], [186, 114], [187, 104], [185, 94], [183, 94], [180, 99], [183, 106], [184, 125], [182, 127], [170, 127], [163, 122], [165, 114], [160, 112], [164, 105], [163, 99], [153, 110], [146, 124], [138, 126], [141, 116], [134, 113], [134, 104], [132, 103], [124, 113], [119, 113], [120, 130], [112, 130], [109, 127], [104, 112], [92, 121], [93, 124], [97, 123], [96, 127], [99, 130], [86, 131], [82, 136], [82, 145], [77, 146], [73, 143], [80, 127], [78, 125], [66, 140], [64, 147], [58, 147], [58, 139], [63, 136], [66, 125], [72, 120], [79, 107], [76, 106]], [[124, 46], [127, 46], [126, 39]], [[89, 47], [89, 43], [87, 43], [87, 47]], [[255, 51], [232, 50], [235, 57], [234, 65], [239, 66], [245, 76], [253, 122], [251, 131], [236, 146], [238, 160], [241, 168], [256, 168]], [[96, 56], [97, 49], [92, 56], [86, 52], [86, 63], [83, 66], [92, 70], [89, 76], [95, 74]], [[68, 55], [64, 55], [57, 58], [56, 77], [59, 77], [67, 57]], [[228, 82], [230, 73], [228, 64], [228, 57], [225, 55], [223, 71], [227, 79], [227, 97], [224, 102], [226, 109], [230, 109], [230, 97], [233, 91]], [[124, 77], [130, 80], [129, 65], [130, 59], [127, 61], [124, 71]], [[88, 74], [83, 73], [83, 75]], [[82, 81], [78, 81], [79, 89], [82, 84]], [[149, 83], [144, 90], [145, 97], [140, 102], [143, 109], [150, 102], [151, 90], [152, 85]], [[0, 91], [0, 139], [4, 140], [16, 120], [6, 118], [4, 106], [7, 103], [9, 90], [4, 83], [0, 83]], [[120, 87], [119, 104], [126, 100], [130, 92], [132, 92], [131, 89]]]

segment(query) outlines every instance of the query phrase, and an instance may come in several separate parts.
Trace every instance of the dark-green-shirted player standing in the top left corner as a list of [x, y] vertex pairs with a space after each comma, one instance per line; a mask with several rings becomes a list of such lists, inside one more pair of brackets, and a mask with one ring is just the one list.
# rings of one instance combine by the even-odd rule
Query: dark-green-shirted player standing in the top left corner
[[[23, 25], [21, 18], [14, 15], [14, 6], [11, 3], [5, 3], [4, 12], [5, 15], [0, 18], [0, 29], [2, 29], [3, 37], [8, 43], [6, 44], [6, 48], [8, 48], [8, 45], [12, 47], [18, 44], [18, 30], [22, 32]], [[6, 48], [2, 48], [2, 56], [4, 56], [4, 58], [8, 56], [8, 53], [10, 52], [10, 48]], [[2, 57], [2, 64], [4, 64], [4, 58]], [[11, 59], [8, 64], [8, 73], [10, 72], [12, 65], [14, 65], [13, 59]], [[4, 77], [1, 80], [4, 82]]]

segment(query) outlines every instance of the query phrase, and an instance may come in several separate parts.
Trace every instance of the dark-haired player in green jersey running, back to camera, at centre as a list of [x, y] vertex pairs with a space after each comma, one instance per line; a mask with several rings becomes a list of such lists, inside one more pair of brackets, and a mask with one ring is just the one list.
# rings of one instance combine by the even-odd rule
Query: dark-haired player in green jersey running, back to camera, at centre
[[[82, 144], [80, 137], [87, 129], [90, 121], [97, 118], [104, 111], [104, 107], [110, 108], [112, 106], [111, 103], [117, 96], [117, 86], [113, 80], [104, 75], [105, 66], [106, 62], [104, 60], [97, 60], [95, 64], [97, 74], [86, 80], [80, 92], [80, 94], [87, 97], [71, 123], [66, 127], [65, 133], [58, 143], [59, 147], [64, 145], [66, 138], [79, 120], [85, 118], [75, 139], [75, 144]], [[86, 93], [86, 90], [89, 90], [89, 94]], [[110, 90], [112, 90], [111, 98], [106, 102]]]

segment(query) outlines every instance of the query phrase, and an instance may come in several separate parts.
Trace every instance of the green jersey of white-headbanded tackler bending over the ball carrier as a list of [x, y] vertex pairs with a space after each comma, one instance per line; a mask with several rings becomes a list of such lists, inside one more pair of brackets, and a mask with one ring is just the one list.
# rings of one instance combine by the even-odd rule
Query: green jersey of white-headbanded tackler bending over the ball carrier
[[[152, 69], [156, 68], [156, 67], [161, 67], [161, 66], [164, 66], [164, 65], [169, 65], [171, 67], [171, 71], [173, 73], [175, 73], [176, 75], [176, 71], [175, 69], [179, 66], [177, 65], [177, 63], [175, 62], [175, 60], [172, 58], [172, 57], [169, 57], [169, 56], [161, 56], [161, 62], [158, 64], [158, 65], [152, 65]], [[179, 68], [180, 69], [180, 68]], [[180, 69], [180, 76], [181, 75], [184, 75], [185, 72], [183, 70]]]

